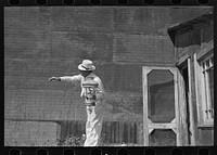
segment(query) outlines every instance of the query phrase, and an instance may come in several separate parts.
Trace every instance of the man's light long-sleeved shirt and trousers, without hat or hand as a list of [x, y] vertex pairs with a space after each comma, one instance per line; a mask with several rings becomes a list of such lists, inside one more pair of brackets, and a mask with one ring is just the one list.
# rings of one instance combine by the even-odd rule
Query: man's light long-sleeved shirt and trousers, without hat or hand
[[[86, 78], [92, 78], [95, 82], [98, 82], [97, 89], [97, 102], [95, 106], [87, 106], [87, 122], [86, 122], [86, 141], [84, 146], [98, 146], [100, 143], [100, 135], [102, 131], [103, 116], [105, 111], [104, 104], [104, 88], [101, 79], [94, 74], [88, 75]], [[80, 96], [85, 94], [85, 88], [82, 88], [82, 82], [86, 78], [81, 75], [75, 76], [64, 76], [61, 77], [62, 81], [74, 82], [80, 81], [81, 92]]]

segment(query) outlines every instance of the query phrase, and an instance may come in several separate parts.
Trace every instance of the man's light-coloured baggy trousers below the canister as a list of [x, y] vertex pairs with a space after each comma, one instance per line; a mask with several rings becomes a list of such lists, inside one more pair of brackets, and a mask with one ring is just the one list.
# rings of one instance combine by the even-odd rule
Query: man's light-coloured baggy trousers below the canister
[[95, 103], [95, 106], [87, 106], [87, 122], [86, 122], [86, 141], [84, 146], [99, 146], [103, 114], [104, 114], [104, 100]]

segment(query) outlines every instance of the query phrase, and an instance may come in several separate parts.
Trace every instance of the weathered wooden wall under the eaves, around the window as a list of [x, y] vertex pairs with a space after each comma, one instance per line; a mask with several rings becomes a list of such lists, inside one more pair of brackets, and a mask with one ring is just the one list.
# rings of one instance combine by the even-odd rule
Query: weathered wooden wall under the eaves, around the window
[[[199, 26], [200, 25], [200, 26]], [[196, 75], [194, 69], [194, 53], [199, 53], [202, 49], [212, 46], [210, 42], [213, 41], [214, 35], [214, 26], [213, 21], [207, 21], [204, 24], [197, 23], [193, 25], [191, 30], [188, 30], [182, 34], [178, 34], [175, 36], [175, 51], [176, 51], [176, 62], [180, 64], [183, 62], [184, 59], [190, 57], [190, 68], [191, 68], [191, 101], [192, 101], [192, 115], [193, 115], [193, 122], [191, 125], [195, 125], [193, 127], [193, 132], [195, 135], [195, 145], [213, 145], [214, 144], [214, 127], [213, 126], [204, 126], [202, 119], [202, 109], [197, 108], [201, 107], [202, 100], [196, 101], [196, 90], [199, 89], [195, 86], [195, 78]], [[181, 30], [181, 28], [180, 28]], [[179, 33], [179, 30], [177, 30]], [[212, 49], [212, 47], [209, 48]], [[179, 67], [179, 66], [178, 66]], [[201, 89], [201, 88], [200, 88]], [[199, 96], [200, 99], [201, 96]], [[206, 138], [205, 138], [206, 137]]]

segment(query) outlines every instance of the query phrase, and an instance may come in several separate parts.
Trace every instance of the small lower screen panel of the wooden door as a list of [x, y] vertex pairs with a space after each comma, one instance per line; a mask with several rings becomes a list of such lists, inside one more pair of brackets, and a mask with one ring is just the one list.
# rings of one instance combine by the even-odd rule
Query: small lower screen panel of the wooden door
[[150, 146], [175, 146], [176, 133], [171, 129], [155, 129], [149, 134]]

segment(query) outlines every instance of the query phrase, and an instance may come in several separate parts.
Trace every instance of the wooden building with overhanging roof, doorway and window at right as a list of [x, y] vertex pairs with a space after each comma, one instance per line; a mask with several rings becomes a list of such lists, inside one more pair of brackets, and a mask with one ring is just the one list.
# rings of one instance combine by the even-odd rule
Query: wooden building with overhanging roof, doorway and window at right
[[[208, 12], [168, 29], [175, 46], [179, 107], [190, 145], [214, 144], [214, 15]], [[179, 89], [180, 90], [180, 89]], [[181, 116], [182, 115], [182, 116]]]

